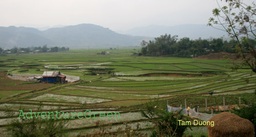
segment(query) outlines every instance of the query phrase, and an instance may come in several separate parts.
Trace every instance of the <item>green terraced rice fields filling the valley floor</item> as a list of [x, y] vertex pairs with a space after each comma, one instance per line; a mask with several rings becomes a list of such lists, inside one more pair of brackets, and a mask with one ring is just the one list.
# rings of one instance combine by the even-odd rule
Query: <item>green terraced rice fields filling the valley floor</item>
[[[97, 49], [98, 51], [99, 49]], [[92, 50], [93, 51], [93, 50]], [[96, 51], [96, 49], [95, 49]], [[62, 112], [120, 112], [120, 119], [68, 119], [69, 135], [97, 130], [95, 122], [112, 124], [110, 131], [132, 129], [137, 123], [141, 132], [149, 132], [152, 123], [140, 115], [145, 102], [158, 98], [174, 107], [184, 104], [204, 107], [235, 104], [238, 97], [251, 100], [256, 87], [256, 74], [248, 67], [233, 72], [229, 60], [201, 60], [172, 57], [133, 57], [130, 49], [110, 55], [97, 55], [86, 50], [68, 53], [7, 55], [0, 58], [0, 123], [5, 128], [19, 110], [60, 110]], [[6, 78], [8, 74], [42, 74], [60, 71], [79, 76], [80, 81], [67, 84], [35, 83]], [[4, 75], [5, 73], [5, 75]], [[209, 96], [214, 92], [213, 96]], [[13, 116], [4, 113], [6, 107]], [[96, 115], [99, 117], [99, 115]], [[1, 130], [2, 131], [2, 130]], [[68, 133], [67, 133], [68, 134]]]

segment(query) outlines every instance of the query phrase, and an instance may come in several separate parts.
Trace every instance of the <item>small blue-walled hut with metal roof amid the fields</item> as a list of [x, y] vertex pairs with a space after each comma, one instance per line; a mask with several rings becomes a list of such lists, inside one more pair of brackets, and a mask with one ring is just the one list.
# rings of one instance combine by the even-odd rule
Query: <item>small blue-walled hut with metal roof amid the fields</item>
[[59, 71], [44, 71], [43, 82], [46, 83], [65, 83], [66, 76], [61, 75]]

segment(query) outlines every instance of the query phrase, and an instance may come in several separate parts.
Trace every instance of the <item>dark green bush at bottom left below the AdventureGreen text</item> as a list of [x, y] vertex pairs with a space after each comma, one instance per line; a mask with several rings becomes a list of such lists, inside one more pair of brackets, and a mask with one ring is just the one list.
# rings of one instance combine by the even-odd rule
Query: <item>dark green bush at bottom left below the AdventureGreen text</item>
[[[5, 112], [9, 116], [13, 115], [10, 108], [7, 108]], [[54, 112], [54, 110], [50, 110], [50, 112]], [[7, 131], [10, 136], [64, 136], [64, 133], [67, 131], [67, 122], [63, 118], [42, 119], [33, 117], [32, 119], [23, 119], [21, 117], [21, 119], [15, 118], [11, 121]]]

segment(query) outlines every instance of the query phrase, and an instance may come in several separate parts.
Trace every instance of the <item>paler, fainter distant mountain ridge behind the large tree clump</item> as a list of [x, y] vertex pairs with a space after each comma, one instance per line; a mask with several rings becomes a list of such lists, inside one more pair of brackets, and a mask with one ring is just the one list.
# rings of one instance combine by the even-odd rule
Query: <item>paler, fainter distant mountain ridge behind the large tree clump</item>
[[[215, 26], [223, 29], [222, 26]], [[165, 33], [172, 36], [178, 35], [179, 38], [190, 38], [190, 39], [208, 39], [210, 37], [220, 38], [228, 37], [225, 31], [215, 29], [206, 24], [184, 24], [177, 26], [158, 26], [150, 25], [147, 27], [136, 27], [126, 31], [117, 31], [122, 34], [133, 35], [133, 36], [148, 36], [148, 37], [159, 37]]]

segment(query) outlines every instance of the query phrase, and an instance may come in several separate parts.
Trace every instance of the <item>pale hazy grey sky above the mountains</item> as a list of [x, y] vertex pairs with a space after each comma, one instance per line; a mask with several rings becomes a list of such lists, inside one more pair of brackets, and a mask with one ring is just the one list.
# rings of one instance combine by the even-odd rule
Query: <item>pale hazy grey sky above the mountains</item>
[[127, 30], [148, 25], [207, 24], [216, 7], [216, 0], [0, 0], [0, 26], [91, 23]]

